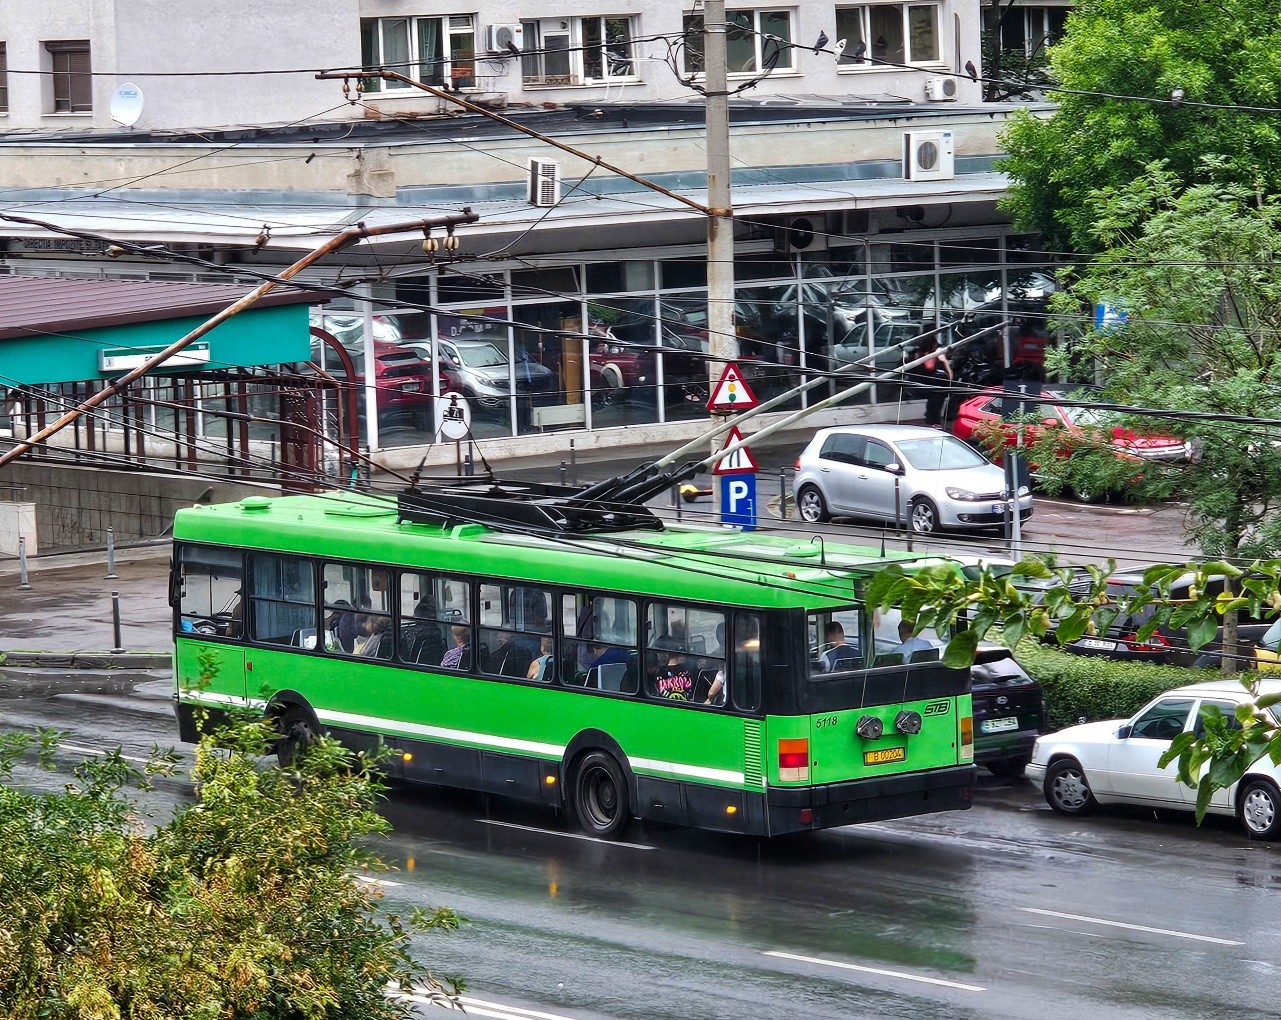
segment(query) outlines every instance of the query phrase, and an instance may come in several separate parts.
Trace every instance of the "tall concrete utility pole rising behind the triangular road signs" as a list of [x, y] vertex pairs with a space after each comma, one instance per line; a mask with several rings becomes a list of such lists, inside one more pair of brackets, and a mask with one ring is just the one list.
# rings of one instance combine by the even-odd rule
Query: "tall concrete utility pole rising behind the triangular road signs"
[[[734, 209], [729, 186], [729, 91], [726, 88], [725, 0], [703, 4], [703, 72], [707, 122], [707, 333], [708, 393], [728, 361], [738, 360], [734, 332]], [[716, 440], [712, 441], [715, 455]], [[712, 488], [715, 513], [720, 492]]]

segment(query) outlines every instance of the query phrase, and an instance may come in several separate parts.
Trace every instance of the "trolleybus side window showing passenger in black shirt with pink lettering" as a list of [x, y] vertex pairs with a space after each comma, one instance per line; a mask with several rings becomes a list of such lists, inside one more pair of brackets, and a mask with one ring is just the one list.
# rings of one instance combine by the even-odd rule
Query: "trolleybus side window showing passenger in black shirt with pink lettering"
[[651, 602], [646, 615], [646, 691], [669, 701], [706, 703], [725, 670], [725, 614]]

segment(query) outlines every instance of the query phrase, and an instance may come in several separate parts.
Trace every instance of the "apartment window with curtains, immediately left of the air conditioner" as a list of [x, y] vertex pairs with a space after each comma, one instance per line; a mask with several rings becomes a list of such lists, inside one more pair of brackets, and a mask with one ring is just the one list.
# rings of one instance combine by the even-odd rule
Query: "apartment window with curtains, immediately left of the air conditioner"
[[[450, 88], [474, 88], [477, 36], [470, 14], [443, 18], [361, 18], [360, 63]], [[405, 82], [369, 79], [366, 92], [410, 88]]]

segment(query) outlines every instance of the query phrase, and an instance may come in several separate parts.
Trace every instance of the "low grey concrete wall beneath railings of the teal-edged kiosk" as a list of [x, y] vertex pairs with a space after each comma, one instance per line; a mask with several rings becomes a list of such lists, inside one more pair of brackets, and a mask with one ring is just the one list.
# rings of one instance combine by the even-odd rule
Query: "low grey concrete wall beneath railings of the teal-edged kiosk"
[[[0, 477], [8, 486], [26, 487], [22, 500], [36, 507], [41, 554], [105, 548], [108, 528], [117, 545], [163, 538], [181, 506], [273, 492], [232, 479], [210, 482], [22, 459], [5, 465]], [[0, 557], [5, 555], [0, 552]]]

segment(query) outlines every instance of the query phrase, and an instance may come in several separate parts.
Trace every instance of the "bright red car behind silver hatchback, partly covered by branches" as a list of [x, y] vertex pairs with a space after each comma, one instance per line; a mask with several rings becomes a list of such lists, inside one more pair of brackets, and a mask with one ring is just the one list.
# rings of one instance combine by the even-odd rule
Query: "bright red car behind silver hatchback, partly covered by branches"
[[[1107, 442], [1118, 459], [1134, 461], [1136, 465], [1154, 461], [1182, 461], [1193, 455], [1193, 445], [1185, 440], [1161, 433], [1138, 433], [1125, 425], [1109, 420], [1107, 411], [1094, 407], [1068, 406], [1056, 401], [1076, 400], [1086, 391], [1075, 388], [1045, 387], [1041, 390], [1043, 402], [1038, 413], [1040, 420], [1008, 422], [1003, 415], [1007, 395], [1003, 390], [985, 390], [970, 397], [957, 409], [952, 433], [968, 443], [986, 451], [991, 437], [1000, 433], [1007, 448], [1013, 447], [1022, 431], [1024, 442], [1034, 443], [1053, 431], [1062, 440], [1061, 455], [1068, 456], [1073, 445]], [[1036, 473], [1036, 465], [1031, 465]], [[1072, 495], [1091, 502], [1098, 493], [1073, 487]]]

